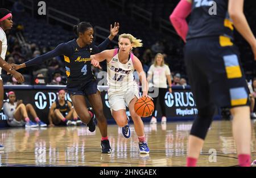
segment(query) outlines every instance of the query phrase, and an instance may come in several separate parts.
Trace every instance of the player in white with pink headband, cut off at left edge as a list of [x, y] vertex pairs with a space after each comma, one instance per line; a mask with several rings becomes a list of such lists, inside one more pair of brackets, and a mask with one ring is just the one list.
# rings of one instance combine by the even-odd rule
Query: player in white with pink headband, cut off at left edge
[[[13, 15], [7, 9], [0, 9], [0, 74], [2, 69], [6, 70], [8, 73], [12, 74], [14, 78], [19, 82], [24, 82], [22, 74], [18, 73], [16, 70], [11, 70], [11, 65], [5, 61], [5, 55], [7, 52], [7, 39], [5, 31], [13, 27]], [[3, 80], [0, 76], [0, 109], [3, 107]], [[0, 145], [0, 150], [4, 147]]]

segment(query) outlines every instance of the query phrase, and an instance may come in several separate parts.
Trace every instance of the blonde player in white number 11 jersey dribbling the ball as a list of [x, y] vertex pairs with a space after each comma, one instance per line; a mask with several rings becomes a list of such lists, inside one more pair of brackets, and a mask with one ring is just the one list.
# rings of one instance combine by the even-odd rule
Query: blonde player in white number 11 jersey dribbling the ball
[[125, 138], [131, 137], [129, 117], [126, 115], [126, 105], [129, 107], [131, 118], [133, 118], [135, 132], [139, 139], [139, 150], [141, 154], [148, 154], [144, 134], [144, 125], [141, 117], [134, 110], [134, 104], [139, 99], [138, 85], [134, 80], [133, 72], [137, 71], [142, 83], [142, 97], [148, 97], [148, 86], [142, 63], [131, 53], [133, 48], [141, 47], [141, 40], [130, 34], [122, 34], [118, 40], [119, 49], [104, 50], [101, 53], [90, 56], [92, 65], [99, 67], [99, 62], [106, 59], [108, 67], [109, 105], [114, 120], [122, 127]]

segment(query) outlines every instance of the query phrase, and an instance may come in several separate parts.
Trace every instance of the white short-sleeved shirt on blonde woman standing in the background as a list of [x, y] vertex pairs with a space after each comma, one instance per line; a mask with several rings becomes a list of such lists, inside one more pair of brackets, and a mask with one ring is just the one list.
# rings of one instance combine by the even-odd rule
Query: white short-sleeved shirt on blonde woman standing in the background
[[153, 75], [154, 87], [167, 88], [167, 75], [171, 75], [169, 66], [164, 64], [163, 66], [151, 65], [148, 70], [148, 75]]

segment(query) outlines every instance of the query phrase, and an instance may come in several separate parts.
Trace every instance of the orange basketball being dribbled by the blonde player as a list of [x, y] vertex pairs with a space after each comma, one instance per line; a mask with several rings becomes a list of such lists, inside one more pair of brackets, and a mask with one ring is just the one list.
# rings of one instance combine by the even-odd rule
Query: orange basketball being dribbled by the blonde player
[[150, 98], [140, 98], [134, 104], [134, 110], [141, 117], [151, 116], [154, 111], [154, 103]]

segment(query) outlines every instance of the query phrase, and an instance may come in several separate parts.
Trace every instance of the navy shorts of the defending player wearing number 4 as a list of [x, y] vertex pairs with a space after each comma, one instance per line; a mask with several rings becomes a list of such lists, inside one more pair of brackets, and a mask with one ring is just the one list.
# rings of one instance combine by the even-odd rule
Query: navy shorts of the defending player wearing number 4
[[92, 80], [89, 83], [77, 83], [67, 84], [67, 91], [69, 95], [83, 95], [83, 96], [89, 96], [97, 93], [97, 81]]

